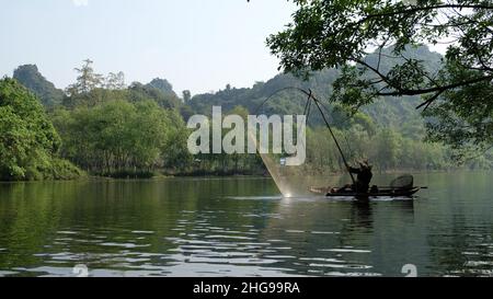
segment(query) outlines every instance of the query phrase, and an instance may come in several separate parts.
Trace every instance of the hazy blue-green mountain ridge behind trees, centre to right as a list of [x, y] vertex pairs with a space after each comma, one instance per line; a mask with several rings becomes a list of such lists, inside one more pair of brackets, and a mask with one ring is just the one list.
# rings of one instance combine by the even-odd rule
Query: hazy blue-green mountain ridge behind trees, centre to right
[[[383, 49], [388, 57], [391, 55], [391, 48]], [[428, 70], [438, 70], [443, 56], [433, 53], [426, 46], [409, 47], [405, 57], [423, 60]], [[366, 57], [366, 61], [376, 66], [378, 58], [376, 54]], [[386, 58], [380, 61], [380, 69], [388, 72], [395, 64], [402, 64], [404, 60]], [[195, 113], [209, 115], [213, 105], [220, 105], [225, 112], [232, 110], [237, 105], [246, 107], [250, 113], [261, 112], [266, 114], [296, 114], [302, 113], [306, 104], [306, 96], [294, 90], [284, 90], [272, 96], [276, 91], [288, 87], [311, 89], [329, 108], [334, 105], [326, 99], [332, 92], [332, 84], [339, 76], [336, 69], [325, 69], [311, 74], [308, 81], [303, 81], [290, 73], [282, 73], [267, 82], [257, 82], [250, 89], [234, 89], [229, 85], [216, 93], [198, 94], [190, 101], [190, 106]], [[264, 103], [262, 108], [259, 106], [268, 97], [272, 99]], [[381, 127], [393, 127], [398, 130], [416, 135], [424, 131], [424, 120], [420, 112], [415, 110], [421, 99], [419, 96], [385, 97], [376, 103], [365, 106], [362, 112], [369, 115], [376, 125]], [[312, 113], [312, 119], [316, 124], [321, 124], [318, 113]], [[347, 118], [335, 111], [332, 113], [332, 122], [335, 125], [346, 123]], [[420, 134], [421, 135], [421, 134]], [[417, 138], [417, 137], [416, 137]]]

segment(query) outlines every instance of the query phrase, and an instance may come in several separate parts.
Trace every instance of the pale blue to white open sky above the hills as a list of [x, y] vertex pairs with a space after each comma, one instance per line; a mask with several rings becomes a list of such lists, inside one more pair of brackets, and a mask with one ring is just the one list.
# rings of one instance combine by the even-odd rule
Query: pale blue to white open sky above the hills
[[286, 0], [0, 0], [0, 76], [36, 64], [58, 88], [85, 58], [127, 83], [168, 79], [181, 93], [250, 87], [277, 73], [265, 38]]

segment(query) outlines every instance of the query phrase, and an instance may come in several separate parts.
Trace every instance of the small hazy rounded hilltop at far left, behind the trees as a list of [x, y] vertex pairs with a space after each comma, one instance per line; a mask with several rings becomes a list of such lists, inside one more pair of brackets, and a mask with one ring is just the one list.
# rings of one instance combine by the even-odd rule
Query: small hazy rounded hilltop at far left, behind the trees
[[64, 91], [46, 80], [36, 65], [20, 66], [14, 70], [13, 79], [36, 94], [44, 106], [50, 107], [64, 100]]

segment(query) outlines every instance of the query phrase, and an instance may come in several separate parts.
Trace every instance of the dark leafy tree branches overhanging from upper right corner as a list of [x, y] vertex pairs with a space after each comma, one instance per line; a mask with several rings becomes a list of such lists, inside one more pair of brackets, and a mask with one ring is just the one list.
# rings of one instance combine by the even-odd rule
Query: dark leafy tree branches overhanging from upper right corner
[[[422, 95], [432, 140], [463, 158], [493, 145], [493, 3], [490, 0], [294, 0], [298, 10], [267, 44], [286, 71], [336, 67], [331, 95], [355, 110], [381, 96]], [[435, 70], [408, 45], [448, 43]], [[391, 55], [382, 49], [393, 45]], [[364, 59], [378, 55], [376, 64]], [[399, 59], [390, 70], [381, 60]]]

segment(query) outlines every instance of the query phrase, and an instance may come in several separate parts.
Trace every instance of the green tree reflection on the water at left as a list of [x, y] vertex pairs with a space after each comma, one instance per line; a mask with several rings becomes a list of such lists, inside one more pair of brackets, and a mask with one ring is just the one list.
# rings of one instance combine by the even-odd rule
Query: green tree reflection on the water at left
[[[191, 185], [182, 180], [0, 184], [0, 269], [46, 265], [50, 254], [89, 264], [122, 254], [121, 246], [103, 242], [165, 252], [173, 244], [164, 237], [179, 234], [172, 229], [181, 211], [199, 208], [203, 189]], [[133, 231], [152, 233], [139, 240]]]

